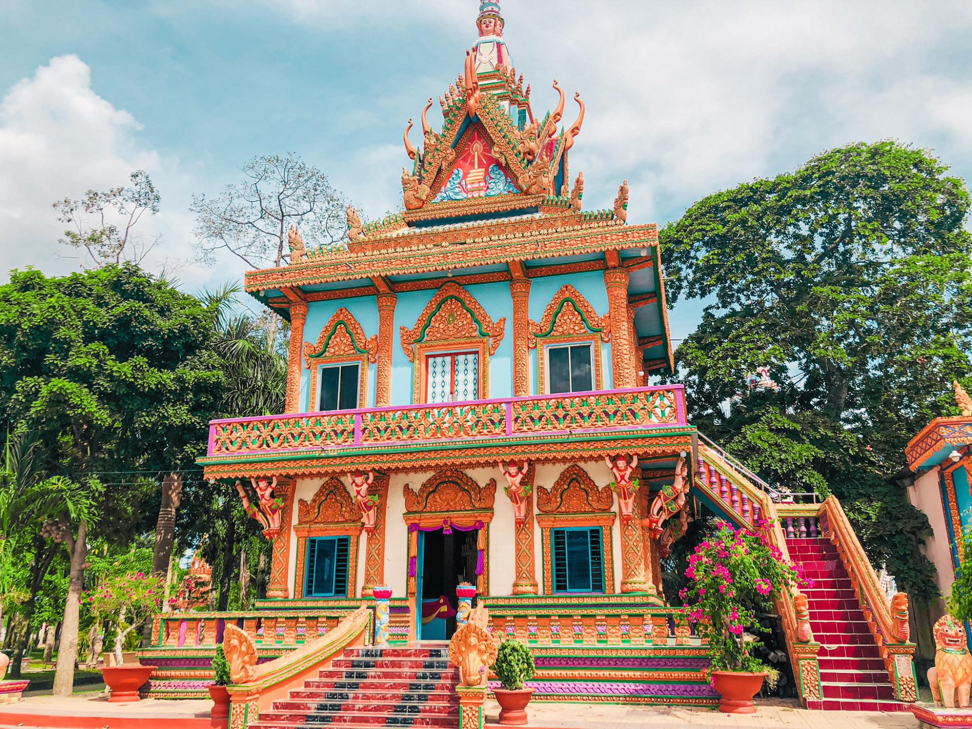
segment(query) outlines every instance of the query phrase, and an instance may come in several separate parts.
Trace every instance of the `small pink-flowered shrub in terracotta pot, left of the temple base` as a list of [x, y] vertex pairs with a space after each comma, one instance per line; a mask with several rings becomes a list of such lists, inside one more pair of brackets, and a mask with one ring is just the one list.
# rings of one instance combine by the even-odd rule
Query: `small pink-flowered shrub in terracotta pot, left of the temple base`
[[[82, 602], [104, 620], [115, 623], [115, 661], [102, 667], [105, 685], [111, 689], [110, 702], [139, 701], [138, 690], [149, 680], [153, 666], [143, 666], [133, 653], [125, 653], [125, 641], [148, 620], [159, 606], [162, 579], [146, 573], [124, 572], [125, 561], [120, 560], [112, 570], [102, 575], [98, 586], [85, 592]], [[127, 660], [126, 660], [127, 659]]]

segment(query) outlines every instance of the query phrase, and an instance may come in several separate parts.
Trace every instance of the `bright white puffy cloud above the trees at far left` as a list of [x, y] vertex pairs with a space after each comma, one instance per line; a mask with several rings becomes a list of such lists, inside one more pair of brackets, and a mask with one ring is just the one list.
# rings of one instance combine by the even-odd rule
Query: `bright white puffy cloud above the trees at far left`
[[7, 92], [0, 101], [0, 279], [27, 265], [49, 275], [76, 270], [76, 251], [58, 243], [66, 226], [52, 202], [123, 186], [136, 169], [149, 172], [162, 192], [162, 213], [139, 224], [148, 238], [162, 235], [144, 264], [175, 270], [191, 286], [210, 276], [180, 267], [191, 256], [184, 180], [175, 159], [142, 143], [141, 129], [91, 88], [90, 69], [76, 55], [52, 58]]

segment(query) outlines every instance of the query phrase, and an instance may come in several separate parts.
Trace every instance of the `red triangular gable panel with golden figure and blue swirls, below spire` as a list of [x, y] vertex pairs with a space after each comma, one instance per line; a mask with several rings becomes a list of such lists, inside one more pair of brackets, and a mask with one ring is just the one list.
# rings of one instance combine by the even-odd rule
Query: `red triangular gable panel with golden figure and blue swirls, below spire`
[[478, 123], [469, 125], [457, 145], [452, 169], [433, 198], [433, 202], [468, 200], [518, 193], [509, 171], [493, 154], [493, 143]]

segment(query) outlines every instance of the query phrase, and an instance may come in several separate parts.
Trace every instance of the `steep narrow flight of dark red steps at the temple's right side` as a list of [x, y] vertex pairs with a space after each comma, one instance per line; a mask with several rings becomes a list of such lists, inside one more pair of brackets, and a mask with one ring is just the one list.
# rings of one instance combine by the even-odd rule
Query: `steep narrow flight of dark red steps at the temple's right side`
[[[816, 531], [816, 530], [815, 530]], [[823, 700], [811, 709], [846, 712], [904, 712], [894, 698], [867, 619], [854, 595], [851, 577], [837, 547], [822, 537], [787, 538], [790, 558], [801, 565], [814, 586], [807, 595], [810, 625], [818, 654]]]

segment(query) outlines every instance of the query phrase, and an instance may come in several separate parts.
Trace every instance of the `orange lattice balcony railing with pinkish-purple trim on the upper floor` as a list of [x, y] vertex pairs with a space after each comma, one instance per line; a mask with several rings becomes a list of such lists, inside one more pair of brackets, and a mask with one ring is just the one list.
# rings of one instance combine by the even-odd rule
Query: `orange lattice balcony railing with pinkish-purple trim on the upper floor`
[[681, 385], [214, 420], [209, 456], [686, 425]]

